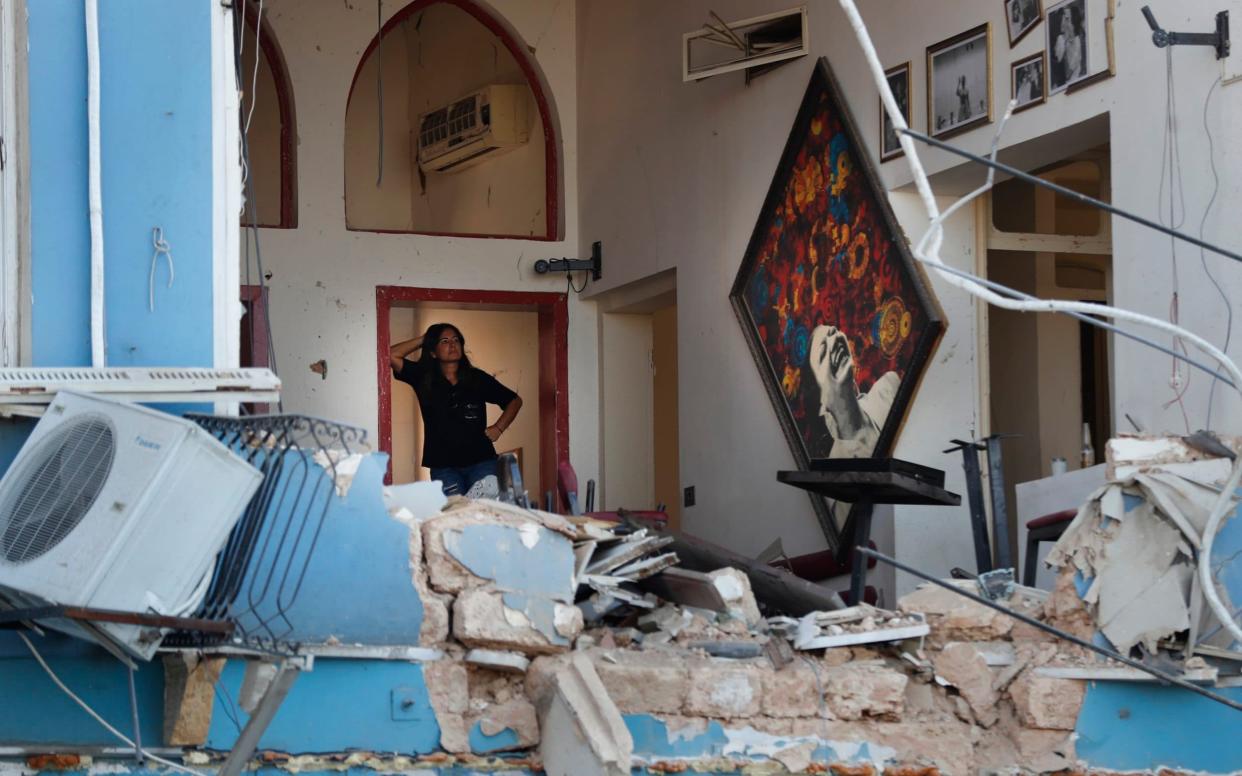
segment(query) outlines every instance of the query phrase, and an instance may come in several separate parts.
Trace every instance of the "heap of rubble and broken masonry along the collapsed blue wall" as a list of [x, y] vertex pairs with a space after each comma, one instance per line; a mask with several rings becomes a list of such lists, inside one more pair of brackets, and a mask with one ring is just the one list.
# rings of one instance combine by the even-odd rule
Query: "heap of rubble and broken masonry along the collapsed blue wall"
[[[448, 752], [538, 747], [553, 776], [688, 760], [775, 769], [764, 772], [1074, 764], [1084, 683], [1056, 669], [1099, 663], [951, 591], [919, 589], [898, 611], [765, 618], [745, 574], [681, 569], [667, 538], [641, 528], [455, 499], [410, 534], [424, 643], [445, 654], [426, 680]], [[1007, 605], [1082, 616], [1072, 585], [1051, 598], [1020, 586]], [[708, 754], [635, 755], [635, 725]]]

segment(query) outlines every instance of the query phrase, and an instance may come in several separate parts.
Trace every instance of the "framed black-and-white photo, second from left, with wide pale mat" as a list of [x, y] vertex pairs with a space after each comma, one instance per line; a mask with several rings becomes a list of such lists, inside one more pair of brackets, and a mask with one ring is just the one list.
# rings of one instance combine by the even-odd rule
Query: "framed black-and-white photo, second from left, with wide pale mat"
[[992, 120], [991, 25], [928, 47], [928, 133], [936, 138]]

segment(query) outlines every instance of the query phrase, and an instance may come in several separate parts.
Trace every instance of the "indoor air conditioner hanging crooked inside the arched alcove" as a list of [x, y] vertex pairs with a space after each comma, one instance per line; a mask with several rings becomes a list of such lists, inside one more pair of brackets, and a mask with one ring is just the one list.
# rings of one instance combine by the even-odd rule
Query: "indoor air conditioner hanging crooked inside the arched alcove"
[[419, 166], [457, 173], [530, 139], [530, 88], [493, 83], [419, 115]]

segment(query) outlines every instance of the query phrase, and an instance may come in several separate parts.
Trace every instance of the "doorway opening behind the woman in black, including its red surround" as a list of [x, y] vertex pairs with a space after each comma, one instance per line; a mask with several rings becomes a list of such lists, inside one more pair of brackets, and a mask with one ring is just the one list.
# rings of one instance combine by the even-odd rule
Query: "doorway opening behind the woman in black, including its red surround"
[[[474, 366], [523, 397], [522, 412], [497, 441], [497, 452], [517, 454], [532, 499], [542, 503], [545, 493], [555, 494], [556, 464], [569, 459], [565, 294], [380, 286], [375, 307], [380, 449], [389, 454], [385, 482], [430, 478], [420, 461], [417, 401], [414, 390], [392, 376], [389, 348], [446, 322], [461, 329]], [[499, 412], [488, 407], [488, 422]]]

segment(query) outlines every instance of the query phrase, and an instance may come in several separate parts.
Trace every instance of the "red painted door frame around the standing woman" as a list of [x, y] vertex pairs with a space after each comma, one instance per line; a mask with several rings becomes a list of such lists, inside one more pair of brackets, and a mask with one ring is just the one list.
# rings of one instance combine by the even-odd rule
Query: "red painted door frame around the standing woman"
[[[565, 294], [519, 291], [467, 291], [457, 288], [375, 287], [375, 361], [379, 381], [380, 449], [392, 454], [392, 369], [389, 365], [389, 313], [394, 303], [438, 302], [456, 304], [510, 304], [534, 307], [539, 325], [539, 488], [527, 483], [533, 497], [560, 494], [556, 466], [569, 461], [569, 305]], [[384, 482], [392, 480], [392, 463]]]

